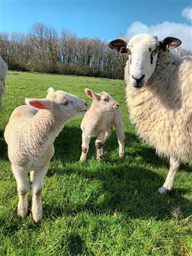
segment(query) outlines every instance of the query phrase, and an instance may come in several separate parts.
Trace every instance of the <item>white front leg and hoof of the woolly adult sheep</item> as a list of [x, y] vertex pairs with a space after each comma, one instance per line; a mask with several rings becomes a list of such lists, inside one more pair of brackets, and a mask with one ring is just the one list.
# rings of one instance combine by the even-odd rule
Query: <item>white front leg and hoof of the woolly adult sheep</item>
[[158, 189], [159, 193], [170, 193], [170, 191], [172, 191], [174, 177], [175, 174], [177, 173], [177, 170], [179, 169], [179, 166], [180, 162], [174, 159], [173, 157], [170, 157], [170, 170], [163, 184], [163, 187]]

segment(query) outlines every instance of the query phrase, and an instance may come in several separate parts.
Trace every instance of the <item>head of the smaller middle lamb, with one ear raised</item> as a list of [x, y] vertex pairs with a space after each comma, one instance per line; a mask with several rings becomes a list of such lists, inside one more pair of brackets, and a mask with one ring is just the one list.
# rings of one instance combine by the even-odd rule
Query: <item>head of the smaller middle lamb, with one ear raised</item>
[[116, 111], [119, 108], [118, 102], [116, 102], [109, 93], [95, 93], [87, 88], [84, 89], [84, 92], [93, 100], [94, 108], [97, 108], [100, 112]]

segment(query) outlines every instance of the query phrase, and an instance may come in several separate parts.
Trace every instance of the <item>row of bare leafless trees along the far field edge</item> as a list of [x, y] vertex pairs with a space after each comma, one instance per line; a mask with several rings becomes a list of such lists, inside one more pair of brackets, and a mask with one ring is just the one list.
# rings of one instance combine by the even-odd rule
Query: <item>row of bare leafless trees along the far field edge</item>
[[98, 38], [78, 38], [65, 29], [34, 24], [29, 33], [0, 33], [0, 55], [10, 70], [124, 78], [126, 54]]

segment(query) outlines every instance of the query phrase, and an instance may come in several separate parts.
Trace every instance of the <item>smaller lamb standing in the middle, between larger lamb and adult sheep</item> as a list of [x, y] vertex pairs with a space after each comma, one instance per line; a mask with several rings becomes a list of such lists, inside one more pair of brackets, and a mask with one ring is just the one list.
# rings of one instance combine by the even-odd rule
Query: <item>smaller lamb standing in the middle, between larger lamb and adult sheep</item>
[[113, 126], [116, 128], [116, 134], [118, 138], [119, 157], [124, 156], [124, 123], [121, 113], [118, 110], [118, 103], [106, 92], [95, 93], [90, 89], [85, 89], [84, 92], [88, 97], [93, 99], [93, 102], [81, 122], [83, 142], [80, 161], [86, 160], [90, 138], [93, 136], [97, 136], [97, 140], [95, 141], [95, 147], [97, 149], [97, 160], [102, 160], [102, 147], [105, 141], [111, 135]]

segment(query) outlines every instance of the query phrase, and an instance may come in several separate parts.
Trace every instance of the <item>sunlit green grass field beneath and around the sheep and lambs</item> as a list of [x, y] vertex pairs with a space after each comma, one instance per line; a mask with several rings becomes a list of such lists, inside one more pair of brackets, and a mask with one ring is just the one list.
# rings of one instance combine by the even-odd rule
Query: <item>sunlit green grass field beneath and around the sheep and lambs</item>
[[[44, 217], [17, 218], [17, 186], [10, 168], [4, 127], [25, 97], [44, 98], [47, 88], [85, 99], [84, 88], [106, 91], [120, 104], [125, 156], [118, 159], [115, 131], [96, 161], [95, 139], [88, 161], [80, 163], [81, 119], [65, 125], [42, 194]], [[129, 122], [125, 83], [120, 80], [9, 72], [0, 113], [0, 255], [192, 255], [192, 173], [183, 164], [172, 195], [159, 195], [168, 161], [140, 141]], [[31, 193], [29, 193], [29, 205]], [[30, 212], [30, 211], [29, 211]]]

